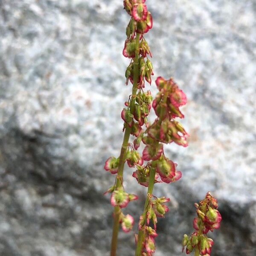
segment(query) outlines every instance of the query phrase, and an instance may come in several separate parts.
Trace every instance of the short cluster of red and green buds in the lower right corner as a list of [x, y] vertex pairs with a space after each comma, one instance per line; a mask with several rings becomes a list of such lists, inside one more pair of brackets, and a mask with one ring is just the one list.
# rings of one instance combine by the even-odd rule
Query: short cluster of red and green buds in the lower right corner
[[207, 233], [209, 230], [218, 229], [221, 222], [221, 214], [217, 210], [217, 199], [207, 192], [205, 198], [199, 204], [195, 204], [195, 207], [198, 215], [193, 221], [195, 232], [191, 236], [184, 235], [182, 250], [186, 246], [187, 254], [195, 250], [195, 256], [209, 256], [214, 243], [207, 237]]

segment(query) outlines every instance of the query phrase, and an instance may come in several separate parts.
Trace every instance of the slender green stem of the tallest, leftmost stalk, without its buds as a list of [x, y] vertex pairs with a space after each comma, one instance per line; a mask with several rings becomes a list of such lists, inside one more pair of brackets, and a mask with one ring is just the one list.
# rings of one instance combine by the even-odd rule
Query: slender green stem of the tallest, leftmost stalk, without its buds
[[[138, 89], [138, 77], [139, 77], [139, 43], [140, 43], [140, 34], [136, 34], [136, 45], [135, 45], [135, 57], [134, 57], [134, 77], [133, 77], [133, 87], [132, 87], [132, 99], [131, 99], [131, 113], [133, 113], [135, 108], [135, 96]], [[129, 142], [131, 134], [131, 127], [128, 125], [125, 128], [124, 139], [122, 143], [122, 148], [119, 156], [119, 166], [117, 175], [120, 177], [116, 179], [116, 188], [122, 186], [122, 177], [123, 177], [123, 170], [125, 164], [125, 154]], [[112, 234], [112, 241], [111, 241], [111, 253], [110, 256], [116, 256], [116, 247], [117, 247], [117, 236], [119, 231], [119, 216], [120, 216], [120, 207], [115, 207], [114, 210], [114, 224], [113, 224], [113, 234]]]

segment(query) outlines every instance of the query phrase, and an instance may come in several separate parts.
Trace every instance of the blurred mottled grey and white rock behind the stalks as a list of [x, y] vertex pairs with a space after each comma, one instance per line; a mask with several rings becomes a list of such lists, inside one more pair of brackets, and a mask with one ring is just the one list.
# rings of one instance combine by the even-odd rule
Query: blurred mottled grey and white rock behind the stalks
[[[171, 198], [156, 256], [180, 256], [194, 202], [210, 190], [223, 216], [212, 256], [256, 255], [256, 1], [147, 0], [155, 76], [186, 92], [189, 147], [166, 147], [183, 177], [158, 184]], [[118, 156], [128, 59], [122, 0], [0, 0], [0, 255], [107, 256], [103, 170]], [[148, 87], [147, 87], [148, 88]], [[152, 84], [155, 93], [155, 86]], [[153, 114], [153, 112], [152, 112]], [[125, 187], [146, 190], [125, 170]], [[134, 228], [136, 230], [136, 226]], [[132, 256], [134, 233], [120, 233]], [[184, 255], [184, 254], [183, 254]]]

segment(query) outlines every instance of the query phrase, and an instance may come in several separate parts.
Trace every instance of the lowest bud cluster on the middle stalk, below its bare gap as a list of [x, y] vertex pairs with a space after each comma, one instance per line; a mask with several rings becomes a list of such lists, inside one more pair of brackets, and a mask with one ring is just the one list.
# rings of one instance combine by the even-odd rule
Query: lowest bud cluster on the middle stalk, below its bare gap
[[[157, 236], [156, 225], [157, 217], [163, 217], [163, 215], [169, 211], [169, 208], [164, 204], [169, 202], [169, 198], [161, 197], [157, 198], [152, 194], [148, 194], [148, 206], [140, 216], [138, 230], [143, 232], [143, 242], [141, 247], [141, 255], [151, 256], [155, 251], [154, 238]], [[154, 225], [154, 229], [149, 226], [150, 221]], [[137, 234], [135, 235], [135, 242], [137, 244]]]

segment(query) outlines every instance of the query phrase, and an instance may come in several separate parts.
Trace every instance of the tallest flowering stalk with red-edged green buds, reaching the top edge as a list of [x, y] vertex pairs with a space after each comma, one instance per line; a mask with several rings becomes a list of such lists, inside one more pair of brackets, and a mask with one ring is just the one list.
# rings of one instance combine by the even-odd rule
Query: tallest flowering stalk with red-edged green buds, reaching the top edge
[[[117, 236], [119, 231], [119, 223], [125, 232], [131, 230], [134, 220], [131, 215], [124, 215], [121, 208], [126, 207], [128, 202], [136, 200], [137, 196], [128, 194], [124, 191], [123, 169], [124, 163], [127, 161], [129, 167], [137, 164], [143, 164], [140, 154], [129, 143], [130, 134], [138, 137], [142, 131], [142, 126], [147, 124], [147, 117], [151, 108], [151, 93], [144, 92], [145, 80], [151, 83], [151, 75], [153, 75], [153, 67], [148, 56], [151, 56], [148, 43], [145, 41], [143, 34], [152, 28], [152, 17], [145, 5], [145, 0], [124, 0], [124, 8], [131, 16], [131, 20], [126, 28], [127, 39], [123, 55], [131, 58], [131, 63], [126, 69], [126, 84], [129, 81], [133, 84], [132, 94], [121, 113], [124, 120], [125, 131], [121, 152], [118, 158], [109, 157], [105, 163], [105, 170], [116, 174], [115, 184], [108, 189], [107, 192], [112, 193], [111, 204], [114, 208], [114, 224], [113, 236], [111, 241], [111, 256], [116, 255]], [[145, 61], [144, 58], [147, 58]], [[106, 193], [107, 193], [106, 192]]]

